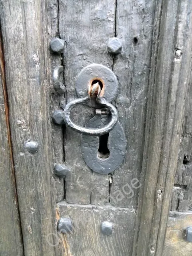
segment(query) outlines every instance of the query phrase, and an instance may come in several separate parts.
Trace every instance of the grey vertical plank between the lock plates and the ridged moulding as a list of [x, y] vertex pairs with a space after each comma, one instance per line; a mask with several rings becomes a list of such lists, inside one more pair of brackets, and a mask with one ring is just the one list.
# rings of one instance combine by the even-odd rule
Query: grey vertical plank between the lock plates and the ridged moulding
[[[113, 70], [119, 81], [116, 107], [127, 148], [124, 163], [113, 175], [112, 197], [126, 184], [131, 186], [132, 179], [140, 180], [154, 7], [155, 1], [117, 1], [116, 36], [122, 40], [122, 53], [115, 57]], [[116, 203], [111, 200], [112, 204], [137, 207], [138, 189], [125, 190], [124, 198]]]

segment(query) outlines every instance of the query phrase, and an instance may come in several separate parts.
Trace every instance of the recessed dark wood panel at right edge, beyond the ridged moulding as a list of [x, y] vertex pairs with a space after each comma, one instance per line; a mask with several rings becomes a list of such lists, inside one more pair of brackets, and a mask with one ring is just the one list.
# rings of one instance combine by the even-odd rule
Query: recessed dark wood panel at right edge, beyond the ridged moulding
[[179, 194], [172, 194], [171, 210], [180, 212], [192, 210], [192, 72], [186, 94], [182, 136], [178, 154], [178, 164], [174, 186], [180, 189]]

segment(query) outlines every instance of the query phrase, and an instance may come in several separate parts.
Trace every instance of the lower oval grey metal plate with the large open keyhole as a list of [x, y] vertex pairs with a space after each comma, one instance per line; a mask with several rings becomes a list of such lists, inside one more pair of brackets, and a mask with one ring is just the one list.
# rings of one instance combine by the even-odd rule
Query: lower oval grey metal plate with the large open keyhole
[[[109, 122], [107, 115], [96, 115], [86, 124], [87, 128], [102, 127]], [[108, 137], [109, 156], [101, 157], [99, 148], [99, 136], [82, 135], [81, 148], [86, 164], [94, 172], [108, 174], [113, 172], [122, 163], [126, 150], [126, 137], [119, 122], [110, 131]]]

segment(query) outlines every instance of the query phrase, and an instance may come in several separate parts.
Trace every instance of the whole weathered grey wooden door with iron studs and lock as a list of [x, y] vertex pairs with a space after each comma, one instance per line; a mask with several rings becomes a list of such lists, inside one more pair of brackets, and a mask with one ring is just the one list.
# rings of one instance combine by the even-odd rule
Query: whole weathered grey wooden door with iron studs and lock
[[[0, 255], [191, 255], [192, 2], [0, 0], [0, 28]], [[107, 50], [112, 37], [119, 54]], [[52, 38], [64, 40], [62, 52]], [[52, 120], [92, 63], [118, 79], [126, 153], [110, 174], [92, 172], [81, 134]], [[88, 106], [72, 113], [82, 126], [92, 116]], [[65, 178], [55, 164], [70, 169]], [[72, 232], [59, 232], [61, 218]], [[106, 221], [112, 234], [102, 232]]]

